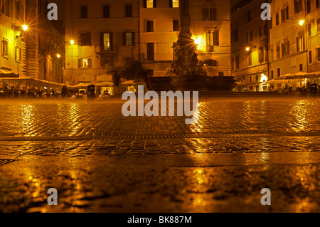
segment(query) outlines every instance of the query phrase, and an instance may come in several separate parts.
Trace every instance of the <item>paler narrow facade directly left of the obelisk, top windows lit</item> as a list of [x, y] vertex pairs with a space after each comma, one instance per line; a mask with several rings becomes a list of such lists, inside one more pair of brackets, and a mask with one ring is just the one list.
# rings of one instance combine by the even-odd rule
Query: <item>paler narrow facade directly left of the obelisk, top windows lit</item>
[[143, 68], [149, 75], [165, 76], [178, 40], [178, 0], [140, 0], [140, 48]]

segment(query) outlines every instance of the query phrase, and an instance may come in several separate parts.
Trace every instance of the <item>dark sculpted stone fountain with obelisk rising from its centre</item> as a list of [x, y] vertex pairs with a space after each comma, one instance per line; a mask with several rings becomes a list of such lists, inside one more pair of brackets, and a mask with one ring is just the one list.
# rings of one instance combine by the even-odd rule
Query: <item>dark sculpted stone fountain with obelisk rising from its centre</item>
[[189, 0], [179, 1], [180, 33], [174, 43], [174, 60], [167, 70], [173, 90], [232, 90], [235, 78], [232, 76], [211, 77], [206, 67], [198, 60], [197, 46], [191, 38]]

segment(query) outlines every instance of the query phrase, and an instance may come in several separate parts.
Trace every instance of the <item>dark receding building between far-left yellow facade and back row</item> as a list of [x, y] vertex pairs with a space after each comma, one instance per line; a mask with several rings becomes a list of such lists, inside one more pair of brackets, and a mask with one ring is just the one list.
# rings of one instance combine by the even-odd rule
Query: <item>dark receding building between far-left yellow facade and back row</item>
[[26, 74], [30, 78], [65, 83], [63, 26], [49, 21], [48, 2], [26, 0]]

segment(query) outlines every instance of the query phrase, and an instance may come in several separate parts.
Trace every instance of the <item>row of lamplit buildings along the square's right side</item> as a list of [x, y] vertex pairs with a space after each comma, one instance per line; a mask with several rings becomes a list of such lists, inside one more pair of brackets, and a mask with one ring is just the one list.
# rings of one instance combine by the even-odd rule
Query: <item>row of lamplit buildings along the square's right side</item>
[[270, 21], [260, 18], [264, 1], [242, 1], [232, 9], [231, 61], [238, 90], [285, 92], [319, 85], [320, 1], [268, 2]]

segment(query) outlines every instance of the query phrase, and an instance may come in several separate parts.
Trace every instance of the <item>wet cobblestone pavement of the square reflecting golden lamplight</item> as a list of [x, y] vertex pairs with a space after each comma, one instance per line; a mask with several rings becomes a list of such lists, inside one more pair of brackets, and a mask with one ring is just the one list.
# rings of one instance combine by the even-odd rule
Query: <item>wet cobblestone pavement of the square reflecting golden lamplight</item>
[[0, 211], [320, 211], [319, 99], [200, 101], [195, 125], [121, 100], [0, 102]]

